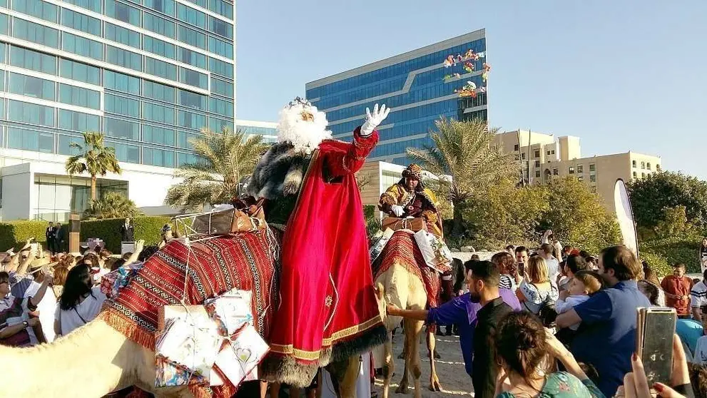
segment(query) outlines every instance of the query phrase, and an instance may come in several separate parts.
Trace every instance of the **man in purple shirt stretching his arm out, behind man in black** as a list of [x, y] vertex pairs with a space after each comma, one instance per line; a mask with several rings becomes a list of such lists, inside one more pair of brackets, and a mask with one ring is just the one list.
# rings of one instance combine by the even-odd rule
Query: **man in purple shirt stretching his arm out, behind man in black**
[[[467, 287], [472, 282], [470, 271], [471, 265], [475, 261], [478, 260], [469, 260], [464, 263], [464, 270], [466, 270], [464, 282], [467, 283]], [[499, 289], [499, 295], [514, 311], [521, 310], [520, 302], [515, 292], [509, 289]], [[482, 305], [479, 302], [472, 302], [470, 293], [467, 293], [429, 310], [402, 310], [392, 304], [387, 305], [386, 310], [388, 315], [424, 320], [427, 325], [457, 325], [459, 346], [462, 348], [462, 356], [464, 357], [464, 369], [466, 369], [469, 376], [472, 376], [474, 329], [477, 323], [477, 312], [479, 312], [481, 307]]]

